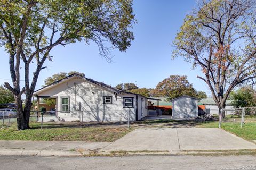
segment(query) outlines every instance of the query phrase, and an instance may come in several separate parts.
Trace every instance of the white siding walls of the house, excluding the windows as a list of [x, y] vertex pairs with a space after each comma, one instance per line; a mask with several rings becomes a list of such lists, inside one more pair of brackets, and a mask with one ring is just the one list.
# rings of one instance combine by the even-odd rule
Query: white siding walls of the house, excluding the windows
[[[76, 95], [75, 95], [76, 83]], [[42, 91], [38, 96], [57, 97], [57, 115], [65, 121], [127, 121], [130, 112], [130, 121], [136, 120], [136, 95], [117, 94], [117, 99], [113, 91], [102, 88], [84, 79], [70, 79], [61, 82], [58, 86]], [[61, 97], [70, 97], [70, 112], [61, 112]], [[81, 111], [76, 111], [76, 101], [81, 102]], [[103, 104], [103, 96], [112, 96], [112, 104]], [[124, 108], [123, 97], [133, 97], [133, 108]], [[141, 116], [141, 96], [138, 97], [138, 120], [147, 115], [144, 106], [144, 114]], [[144, 100], [146, 101], [145, 97]]]

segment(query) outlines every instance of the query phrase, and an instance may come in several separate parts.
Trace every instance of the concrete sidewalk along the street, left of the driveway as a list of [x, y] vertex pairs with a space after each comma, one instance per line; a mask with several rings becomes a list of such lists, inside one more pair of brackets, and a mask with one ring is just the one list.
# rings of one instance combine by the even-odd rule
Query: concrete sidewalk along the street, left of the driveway
[[109, 144], [80, 141], [0, 141], [0, 155], [81, 156], [82, 151], [86, 154]]

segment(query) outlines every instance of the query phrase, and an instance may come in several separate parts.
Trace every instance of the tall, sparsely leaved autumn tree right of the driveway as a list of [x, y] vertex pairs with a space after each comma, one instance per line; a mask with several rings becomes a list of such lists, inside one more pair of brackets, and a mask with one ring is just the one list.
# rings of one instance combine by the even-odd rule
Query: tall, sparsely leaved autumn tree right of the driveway
[[219, 109], [234, 87], [256, 77], [255, 15], [255, 0], [200, 0], [174, 41], [173, 57], [202, 70], [197, 77]]

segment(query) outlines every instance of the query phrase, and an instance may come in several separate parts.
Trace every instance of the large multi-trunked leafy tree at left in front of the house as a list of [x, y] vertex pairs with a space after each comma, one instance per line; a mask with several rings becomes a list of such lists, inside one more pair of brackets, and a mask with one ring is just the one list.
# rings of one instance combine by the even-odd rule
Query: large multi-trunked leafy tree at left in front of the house
[[[18, 129], [29, 128], [31, 97], [53, 48], [94, 41], [99, 54], [110, 60], [110, 49], [125, 51], [131, 45], [134, 36], [130, 28], [134, 22], [132, 0], [1, 1], [0, 45], [9, 54], [13, 83], [11, 86], [5, 82], [5, 87], [12, 91], [17, 104]], [[36, 65], [33, 74], [31, 63]], [[20, 84], [22, 70], [25, 87]], [[26, 94], [24, 107], [22, 94]]]

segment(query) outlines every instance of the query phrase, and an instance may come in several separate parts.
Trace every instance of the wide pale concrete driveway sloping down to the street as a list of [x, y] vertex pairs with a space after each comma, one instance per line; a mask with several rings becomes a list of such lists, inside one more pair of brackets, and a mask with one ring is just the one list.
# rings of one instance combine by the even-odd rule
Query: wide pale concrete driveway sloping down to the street
[[104, 151], [183, 151], [256, 149], [256, 145], [218, 128], [135, 129]]

